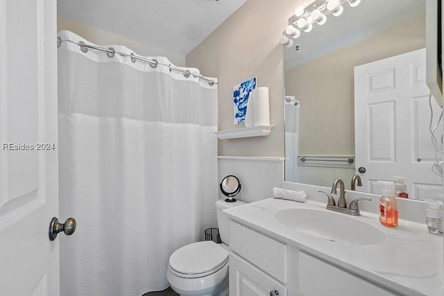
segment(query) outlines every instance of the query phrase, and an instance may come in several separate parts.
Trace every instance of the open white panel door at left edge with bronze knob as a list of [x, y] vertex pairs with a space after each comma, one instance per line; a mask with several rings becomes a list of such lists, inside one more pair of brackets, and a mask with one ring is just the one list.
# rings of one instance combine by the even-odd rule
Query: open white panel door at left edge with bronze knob
[[0, 0], [1, 295], [60, 294], [56, 38], [55, 0]]

